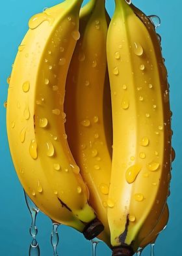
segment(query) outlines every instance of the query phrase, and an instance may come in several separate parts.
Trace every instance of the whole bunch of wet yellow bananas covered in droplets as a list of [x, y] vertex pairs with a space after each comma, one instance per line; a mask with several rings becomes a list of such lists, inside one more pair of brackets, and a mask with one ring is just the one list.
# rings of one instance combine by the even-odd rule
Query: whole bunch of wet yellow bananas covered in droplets
[[62, 1], [29, 20], [7, 80], [25, 193], [112, 256], [153, 244], [168, 223], [175, 152], [159, 22], [127, 0], [112, 17], [105, 0]]

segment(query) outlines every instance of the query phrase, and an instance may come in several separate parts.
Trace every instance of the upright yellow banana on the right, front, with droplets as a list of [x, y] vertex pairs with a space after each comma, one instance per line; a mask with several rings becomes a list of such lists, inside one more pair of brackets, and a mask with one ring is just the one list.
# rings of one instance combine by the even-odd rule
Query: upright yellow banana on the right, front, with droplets
[[112, 255], [133, 255], [166, 204], [172, 159], [167, 71], [155, 28], [116, 0], [107, 35], [113, 153], [107, 211]]

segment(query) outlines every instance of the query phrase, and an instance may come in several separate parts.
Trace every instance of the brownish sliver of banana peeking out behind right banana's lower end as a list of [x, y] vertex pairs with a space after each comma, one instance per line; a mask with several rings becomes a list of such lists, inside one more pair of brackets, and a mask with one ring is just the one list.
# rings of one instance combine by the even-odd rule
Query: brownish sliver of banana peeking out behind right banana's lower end
[[164, 208], [164, 212], [162, 213], [161, 218], [159, 219], [157, 225], [155, 226], [155, 229], [147, 236], [142, 243], [140, 244], [140, 248], [145, 248], [148, 246], [148, 244], [154, 244], [157, 240], [157, 236], [162, 232], [162, 230], [165, 229], [169, 219], [169, 209], [168, 205], [166, 204]]

